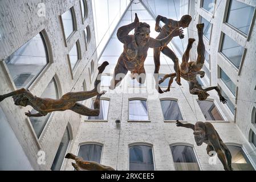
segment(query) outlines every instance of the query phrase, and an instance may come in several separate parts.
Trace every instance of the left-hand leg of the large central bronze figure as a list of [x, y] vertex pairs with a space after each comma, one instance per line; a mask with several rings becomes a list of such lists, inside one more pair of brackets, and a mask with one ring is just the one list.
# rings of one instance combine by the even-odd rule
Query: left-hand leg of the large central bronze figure
[[125, 66], [121, 64], [121, 61], [124, 61], [124, 60], [122, 60], [121, 57], [119, 57], [119, 61], [116, 64], [113, 78], [111, 80], [111, 86], [110, 86], [111, 90], [115, 89], [116, 86], [121, 84], [121, 81], [123, 80], [123, 78], [128, 72], [127, 68], [125, 68]]

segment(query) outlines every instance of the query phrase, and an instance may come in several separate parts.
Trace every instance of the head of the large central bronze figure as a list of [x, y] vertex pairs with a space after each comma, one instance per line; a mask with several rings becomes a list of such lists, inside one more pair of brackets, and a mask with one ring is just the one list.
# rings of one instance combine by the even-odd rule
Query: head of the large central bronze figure
[[136, 43], [139, 46], [144, 46], [149, 41], [150, 26], [147, 23], [140, 22], [139, 26], [135, 28], [134, 36]]

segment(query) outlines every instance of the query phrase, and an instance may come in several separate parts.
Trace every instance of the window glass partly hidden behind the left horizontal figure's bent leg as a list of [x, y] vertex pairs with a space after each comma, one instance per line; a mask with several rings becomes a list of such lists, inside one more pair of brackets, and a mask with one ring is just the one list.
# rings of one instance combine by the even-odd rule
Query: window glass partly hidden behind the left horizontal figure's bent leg
[[[89, 116], [88, 119], [107, 120], [108, 119], [108, 107], [109, 107], [109, 101], [100, 100], [100, 114], [98, 116]], [[94, 109], [94, 100], [92, 101], [91, 109]]]

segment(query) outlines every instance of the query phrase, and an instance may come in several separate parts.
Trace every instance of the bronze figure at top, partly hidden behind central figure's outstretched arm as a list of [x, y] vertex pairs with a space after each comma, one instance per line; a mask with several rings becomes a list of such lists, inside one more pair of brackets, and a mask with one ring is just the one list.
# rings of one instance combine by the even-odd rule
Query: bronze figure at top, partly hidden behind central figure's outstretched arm
[[[160, 32], [160, 34], [156, 37], [156, 39], [162, 39], [165, 36], [169, 35], [170, 32], [172, 32], [175, 28], [187, 28], [189, 26], [189, 23], [191, 22], [192, 17], [190, 15], [184, 15], [181, 17], [179, 21], [168, 19], [164, 16], [158, 15], [156, 17], [156, 27], [155, 30], [157, 32]], [[164, 22], [165, 25], [161, 28], [159, 26], [160, 21]], [[184, 35], [180, 35], [180, 38], [183, 39]], [[181, 85], [180, 83], [180, 66], [178, 64], [178, 57], [175, 55], [175, 53], [167, 46], [162, 46], [159, 48], [154, 48], [154, 62], [155, 62], [155, 74], [159, 73], [160, 68], [160, 53], [164, 53], [164, 55], [168, 56], [170, 59], [172, 59], [174, 63], [174, 71], [176, 72], [176, 82], [178, 85]], [[158, 82], [158, 77], [157, 81]], [[159, 93], [163, 93], [162, 90], [159, 90]]]

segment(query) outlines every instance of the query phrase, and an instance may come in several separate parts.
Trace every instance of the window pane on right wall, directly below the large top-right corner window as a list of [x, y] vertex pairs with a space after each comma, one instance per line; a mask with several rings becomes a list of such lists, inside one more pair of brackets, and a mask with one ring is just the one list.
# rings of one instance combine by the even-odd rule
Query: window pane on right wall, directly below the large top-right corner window
[[245, 49], [224, 34], [221, 52], [239, 69]]

